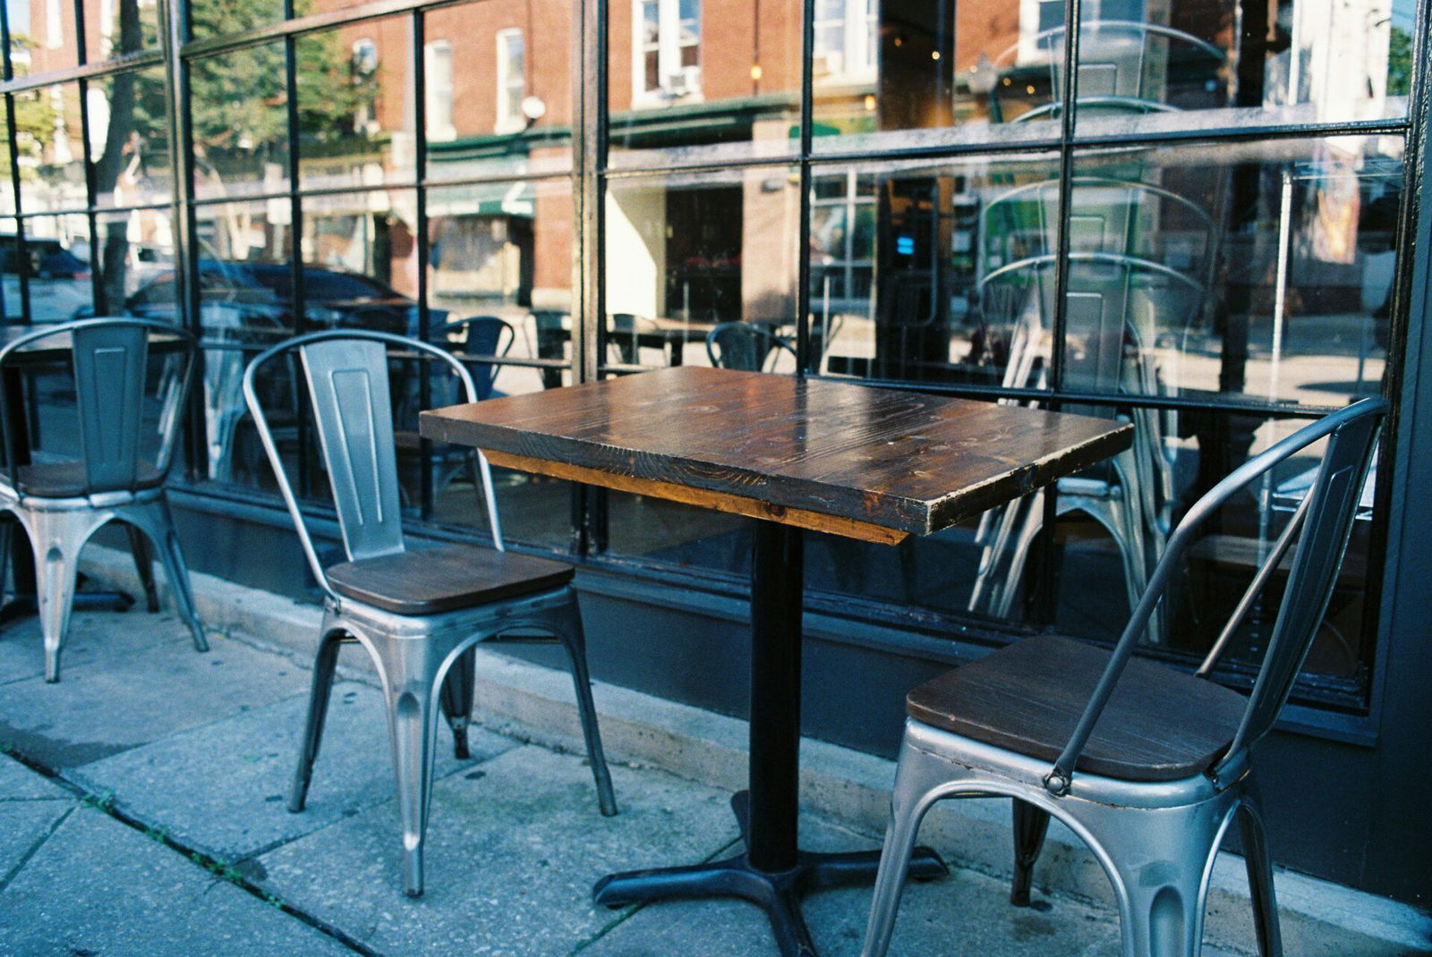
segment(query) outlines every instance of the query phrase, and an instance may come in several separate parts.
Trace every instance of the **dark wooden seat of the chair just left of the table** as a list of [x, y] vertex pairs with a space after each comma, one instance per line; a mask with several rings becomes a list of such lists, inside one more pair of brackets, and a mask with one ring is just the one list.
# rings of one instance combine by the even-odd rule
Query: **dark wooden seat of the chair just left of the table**
[[325, 569], [339, 595], [398, 615], [435, 615], [560, 588], [576, 569], [471, 545], [397, 552]]

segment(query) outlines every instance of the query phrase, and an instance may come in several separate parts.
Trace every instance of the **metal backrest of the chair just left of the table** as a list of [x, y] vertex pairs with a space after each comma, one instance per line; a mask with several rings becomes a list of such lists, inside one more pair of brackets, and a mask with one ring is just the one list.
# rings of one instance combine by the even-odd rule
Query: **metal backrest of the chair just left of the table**
[[[298, 353], [312, 403], [314, 428], [328, 469], [334, 506], [338, 511], [344, 551], [349, 561], [391, 555], [404, 551], [404, 541], [392, 398], [388, 389], [390, 346], [415, 352], [421, 359], [447, 363], [457, 375], [467, 402], [477, 402], [473, 376], [451, 353], [417, 339], [384, 332], [344, 329], [295, 336], [255, 356], [243, 372], [243, 398], [253, 413], [279, 492], [288, 505], [314, 575], [334, 601], [338, 601], [338, 597], [324, 575], [298, 496], [288, 481], [278, 443], [255, 389], [255, 378], [271, 359], [291, 352]], [[491, 469], [481, 453], [478, 463], [493, 528], [493, 545], [501, 551], [503, 538]]]

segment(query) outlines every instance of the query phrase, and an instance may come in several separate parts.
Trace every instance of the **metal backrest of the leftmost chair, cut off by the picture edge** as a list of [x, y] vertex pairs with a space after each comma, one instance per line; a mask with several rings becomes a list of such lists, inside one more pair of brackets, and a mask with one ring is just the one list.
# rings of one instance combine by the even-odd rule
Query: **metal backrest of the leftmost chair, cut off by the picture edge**
[[[162, 335], [172, 348], [172, 363], [160, 373], [155, 393], [146, 395], [149, 338]], [[23, 362], [23, 353], [46, 349], [47, 339], [69, 339], [79, 419], [80, 455], [84, 462], [84, 495], [135, 491], [142, 456], [152, 453], [155, 469], [166, 475], [173, 459], [179, 419], [193, 379], [196, 352], [193, 336], [178, 326], [153, 319], [96, 318], [44, 326], [13, 339], [0, 349], [0, 372]], [[7, 389], [0, 389], [0, 429], [4, 431], [7, 468], [27, 461], [26, 436], [10, 428]], [[158, 403], [158, 409], [155, 408]], [[146, 449], [145, 418], [156, 413], [152, 449]], [[30, 436], [33, 438], [33, 436]], [[11, 475], [11, 481], [14, 476]]]

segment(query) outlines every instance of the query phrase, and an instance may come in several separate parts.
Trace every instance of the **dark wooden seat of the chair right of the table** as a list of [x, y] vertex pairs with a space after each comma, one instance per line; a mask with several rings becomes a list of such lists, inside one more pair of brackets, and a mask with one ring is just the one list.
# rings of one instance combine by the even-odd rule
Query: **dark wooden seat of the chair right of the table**
[[[1041, 635], [948, 671], [906, 695], [922, 724], [1053, 762], [1078, 722], [1108, 651]], [[1227, 748], [1247, 698], [1131, 658], [1077, 768], [1126, 781], [1176, 781]]]

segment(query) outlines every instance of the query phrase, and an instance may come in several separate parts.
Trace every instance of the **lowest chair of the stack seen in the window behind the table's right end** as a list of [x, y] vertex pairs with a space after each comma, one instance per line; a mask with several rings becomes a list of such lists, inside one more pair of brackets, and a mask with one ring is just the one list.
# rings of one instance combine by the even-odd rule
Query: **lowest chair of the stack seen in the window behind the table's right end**
[[[1055, 257], [1008, 263], [981, 280], [987, 303], [1015, 305], [1015, 332], [1005, 368], [1007, 386], [1045, 388], [1047, 339], [1055, 302]], [[1111, 253], [1070, 253], [1065, 289], [1063, 385], [1074, 392], [1157, 396], [1167, 375], [1154, 343], [1166, 330], [1183, 330], [1203, 303], [1203, 286], [1158, 263]], [[994, 310], [985, 309], [985, 320]], [[1108, 408], [1070, 409], [1111, 415]], [[1055, 515], [1084, 512], [1114, 539], [1130, 605], [1143, 592], [1176, 506], [1176, 438], [1169, 416], [1136, 409], [1134, 445], [1107, 465], [1060, 479]], [[1025, 559], [1044, 519], [1044, 492], [991, 512], [979, 531], [982, 554], [969, 597], [971, 611], [1005, 617]], [[1157, 625], [1156, 625], [1157, 631]]]

